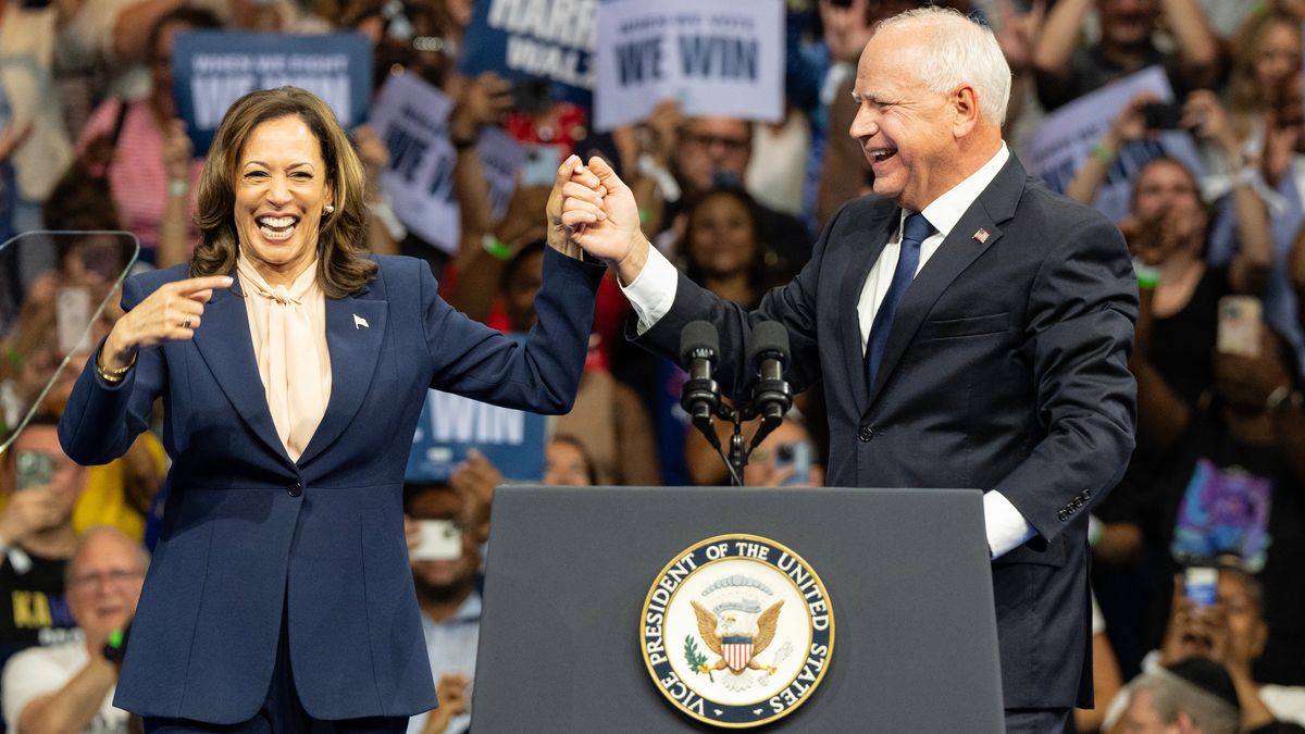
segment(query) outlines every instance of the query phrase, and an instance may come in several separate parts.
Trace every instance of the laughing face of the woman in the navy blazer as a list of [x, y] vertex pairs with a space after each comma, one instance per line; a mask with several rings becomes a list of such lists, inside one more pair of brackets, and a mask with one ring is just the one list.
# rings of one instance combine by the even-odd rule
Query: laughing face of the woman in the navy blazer
[[321, 141], [298, 116], [260, 123], [236, 162], [240, 251], [269, 285], [290, 285], [317, 257], [331, 202]]

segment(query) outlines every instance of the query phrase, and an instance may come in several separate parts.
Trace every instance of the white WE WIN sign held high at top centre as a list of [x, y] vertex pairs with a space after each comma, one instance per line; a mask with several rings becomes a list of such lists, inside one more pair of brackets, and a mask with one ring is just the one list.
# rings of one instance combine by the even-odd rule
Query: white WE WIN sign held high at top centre
[[686, 115], [778, 121], [784, 101], [780, 0], [609, 0], [598, 7], [594, 127], [647, 118], [663, 99]]

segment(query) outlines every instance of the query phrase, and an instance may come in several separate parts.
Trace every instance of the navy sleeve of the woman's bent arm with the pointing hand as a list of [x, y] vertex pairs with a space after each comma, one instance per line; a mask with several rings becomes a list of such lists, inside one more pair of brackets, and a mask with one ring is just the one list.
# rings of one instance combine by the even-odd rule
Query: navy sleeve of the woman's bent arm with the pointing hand
[[[149, 293], [140, 278], [123, 282], [123, 310], [130, 311]], [[150, 407], [163, 391], [166, 367], [158, 346], [144, 347], [136, 366], [121, 383], [108, 383], [95, 370], [95, 360], [104, 342], [100, 341], [86, 362], [68, 405], [59, 419], [59, 441], [64, 453], [86, 466], [108, 464], [130, 448], [132, 441], [150, 424]]]

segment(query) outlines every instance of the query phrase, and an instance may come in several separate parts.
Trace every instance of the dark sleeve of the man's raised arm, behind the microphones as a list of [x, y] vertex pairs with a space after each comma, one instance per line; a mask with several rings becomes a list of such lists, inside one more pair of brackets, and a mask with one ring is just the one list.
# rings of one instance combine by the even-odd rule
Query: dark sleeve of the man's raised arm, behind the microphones
[[[752, 328], [761, 321], [779, 321], [788, 330], [791, 363], [786, 376], [795, 393], [805, 391], [820, 379], [820, 351], [817, 350], [816, 283], [823, 263], [825, 249], [837, 231], [847, 206], [840, 209], [816, 240], [810, 260], [788, 285], [773, 289], [754, 311], [722, 299], [698, 286], [680, 273], [675, 303], [662, 319], [636, 341], [642, 346], [679, 362], [680, 330], [689, 321], [711, 321], [720, 332], [722, 359], [716, 368], [720, 389], [736, 400], [748, 397], [756, 380], [746, 364], [748, 341]], [[628, 336], [633, 337], [633, 323]]]

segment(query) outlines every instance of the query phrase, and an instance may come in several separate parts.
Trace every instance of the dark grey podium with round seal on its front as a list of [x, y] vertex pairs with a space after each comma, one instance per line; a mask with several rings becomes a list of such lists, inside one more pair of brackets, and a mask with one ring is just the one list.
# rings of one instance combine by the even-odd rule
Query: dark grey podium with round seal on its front
[[980, 492], [543, 486], [495, 496], [471, 730], [720, 730], [672, 705], [642, 632], [663, 569], [726, 534], [792, 549], [834, 619], [818, 686], [761, 730], [1004, 731]]

